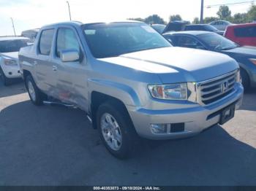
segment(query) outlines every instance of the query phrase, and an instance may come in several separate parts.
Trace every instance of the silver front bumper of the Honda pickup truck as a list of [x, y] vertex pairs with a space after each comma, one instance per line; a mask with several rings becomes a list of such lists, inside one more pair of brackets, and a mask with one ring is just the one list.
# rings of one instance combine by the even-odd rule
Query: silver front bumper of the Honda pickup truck
[[[135, 106], [127, 106], [135, 130], [140, 136], [147, 139], [178, 139], [193, 136], [202, 130], [216, 125], [220, 120], [220, 111], [230, 104], [236, 104], [236, 109], [241, 106], [244, 88], [237, 85], [233, 93], [225, 96], [219, 101], [206, 106], [191, 104], [182, 109], [153, 110], [143, 109]], [[184, 131], [178, 133], [152, 133], [151, 124], [173, 124], [184, 123]]]

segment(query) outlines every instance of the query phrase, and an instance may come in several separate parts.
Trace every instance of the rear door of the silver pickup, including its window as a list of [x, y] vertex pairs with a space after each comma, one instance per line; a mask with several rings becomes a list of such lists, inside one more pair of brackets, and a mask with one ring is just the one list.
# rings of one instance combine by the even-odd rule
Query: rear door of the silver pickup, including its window
[[56, 75], [53, 70], [52, 53], [53, 53], [53, 36], [54, 28], [42, 30], [37, 44], [37, 56], [34, 59], [36, 71], [37, 86], [39, 89], [53, 95], [56, 86]]

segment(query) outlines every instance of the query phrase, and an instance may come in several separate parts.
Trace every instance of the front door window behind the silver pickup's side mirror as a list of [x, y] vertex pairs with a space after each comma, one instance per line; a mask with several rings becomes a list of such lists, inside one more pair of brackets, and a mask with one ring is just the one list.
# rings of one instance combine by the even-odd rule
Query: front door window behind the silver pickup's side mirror
[[80, 52], [80, 45], [75, 32], [70, 28], [59, 28], [56, 42], [56, 56], [60, 57], [61, 50], [75, 49]]

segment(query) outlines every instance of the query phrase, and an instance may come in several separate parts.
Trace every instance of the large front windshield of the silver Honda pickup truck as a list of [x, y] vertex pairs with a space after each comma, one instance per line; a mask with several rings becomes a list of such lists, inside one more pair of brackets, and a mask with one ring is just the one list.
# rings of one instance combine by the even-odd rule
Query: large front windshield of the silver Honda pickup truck
[[144, 23], [87, 24], [83, 31], [95, 58], [171, 47], [163, 36]]

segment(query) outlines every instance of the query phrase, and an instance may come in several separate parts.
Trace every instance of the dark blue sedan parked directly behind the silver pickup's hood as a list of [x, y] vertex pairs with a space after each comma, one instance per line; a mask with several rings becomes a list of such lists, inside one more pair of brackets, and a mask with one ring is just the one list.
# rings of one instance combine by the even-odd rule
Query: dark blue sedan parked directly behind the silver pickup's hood
[[223, 36], [206, 31], [184, 31], [163, 36], [176, 47], [211, 50], [229, 55], [241, 67], [244, 88], [256, 87], [256, 47], [240, 47]]

